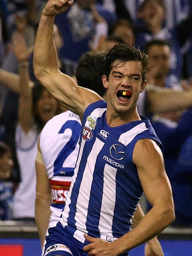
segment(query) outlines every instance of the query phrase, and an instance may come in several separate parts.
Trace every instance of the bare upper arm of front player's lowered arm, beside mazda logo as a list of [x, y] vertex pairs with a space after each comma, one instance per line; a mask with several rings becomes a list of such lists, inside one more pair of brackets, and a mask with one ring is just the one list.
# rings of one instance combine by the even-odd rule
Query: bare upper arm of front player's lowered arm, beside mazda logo
[[152, 206], [173, 204], [172, 190], [165, 172], [164, 160], [156, 142], [139, 140], [134, 148], [136, 164], [143, 191]]

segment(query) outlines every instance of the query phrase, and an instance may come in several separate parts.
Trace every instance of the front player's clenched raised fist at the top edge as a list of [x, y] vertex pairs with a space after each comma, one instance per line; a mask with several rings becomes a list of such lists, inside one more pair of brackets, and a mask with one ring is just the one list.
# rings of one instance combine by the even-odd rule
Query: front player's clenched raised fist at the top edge
[[55, 16], [65, 12], [71, 5], [73, 0], [49, 0], [45, 5], [43, 14], [46, 16]]

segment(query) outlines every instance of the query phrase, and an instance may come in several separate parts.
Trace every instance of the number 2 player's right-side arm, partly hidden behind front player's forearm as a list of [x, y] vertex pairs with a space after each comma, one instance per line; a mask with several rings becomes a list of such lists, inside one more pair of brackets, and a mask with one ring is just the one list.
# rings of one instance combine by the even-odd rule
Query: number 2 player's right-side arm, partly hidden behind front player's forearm
[[[133, 226], [136, 227], [139, 222], [144, 218], [145, 214], [139, 204], [134, 212]], [[157, 239], [157, 236], [149, 240], [145, 244], [145, 256], [164, 256], [161, 244]]]

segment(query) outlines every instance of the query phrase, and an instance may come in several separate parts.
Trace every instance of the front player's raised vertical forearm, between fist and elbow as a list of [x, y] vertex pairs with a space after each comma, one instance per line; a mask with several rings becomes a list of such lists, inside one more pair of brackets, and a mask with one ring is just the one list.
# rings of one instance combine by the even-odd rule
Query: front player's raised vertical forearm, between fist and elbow
[[57, 53], [53, 40], [54, 16], [41, 16], [35, 40], [33, 66], [35, 76], [39, 79], [42, 73], [58, 69]]

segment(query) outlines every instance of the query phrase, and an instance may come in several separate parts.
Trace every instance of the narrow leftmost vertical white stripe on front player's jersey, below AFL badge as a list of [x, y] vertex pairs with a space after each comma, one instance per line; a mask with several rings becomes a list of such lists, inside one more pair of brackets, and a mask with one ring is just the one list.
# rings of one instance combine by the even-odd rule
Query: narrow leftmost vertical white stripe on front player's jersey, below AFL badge
[[78, 170], [79, 170], [79, 163], [81, 161], [81, 157], [82, 157], [85, 142], [86, 142], [85, 140], [82, 140], [81, 148], [80, 148], [80, 151], [79, 151], [79, 157], [77, 159], [77, 165], [76, 165], [76, 168], [74, 170], [74, 175], [72, 177], [72, 182], [71, 182], [69, 192], [67, 193], [67, 197], [66, 197], [66, 201], [65, 201], [65, 208], [64, 208], [64, 211], [62, 212], [62, 218], [60, 219], [60, 222], [61, 222], [63, 227], [68, 225], [67, 218], [69, 217], [69, 211], [70, 211], [69, 205], [71, 203], [71, 191], [73, 189], [73, 185], [74, 185], [74, 183], [76, 181], [76, 178], [77, 178], [77, 173], [78, 173]]

